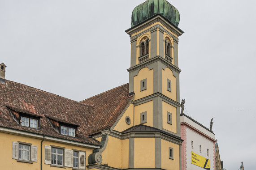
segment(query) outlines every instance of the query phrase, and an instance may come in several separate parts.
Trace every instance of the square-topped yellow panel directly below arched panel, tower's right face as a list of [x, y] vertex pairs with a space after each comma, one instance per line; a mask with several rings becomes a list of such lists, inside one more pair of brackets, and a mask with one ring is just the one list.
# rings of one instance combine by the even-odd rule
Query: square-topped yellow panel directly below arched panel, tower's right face
[[[177, 114], [176, 114], [176, 107], [168, 104], [167, 102], [163, 101], [163, 128], [177, 133]], [[167, 123], [167, 112], [172, 114], [172, 124]]]

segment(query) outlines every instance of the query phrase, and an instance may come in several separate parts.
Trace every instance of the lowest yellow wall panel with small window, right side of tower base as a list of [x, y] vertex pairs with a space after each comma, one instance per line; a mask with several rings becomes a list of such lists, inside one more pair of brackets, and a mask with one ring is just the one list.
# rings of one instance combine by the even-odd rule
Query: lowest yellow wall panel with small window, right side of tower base
[[[174, 159], [169, 158], [169, 147], [174, 149]], [[179, 170], [179, 145], [161, 139], [161, 164], [165, 170]]]

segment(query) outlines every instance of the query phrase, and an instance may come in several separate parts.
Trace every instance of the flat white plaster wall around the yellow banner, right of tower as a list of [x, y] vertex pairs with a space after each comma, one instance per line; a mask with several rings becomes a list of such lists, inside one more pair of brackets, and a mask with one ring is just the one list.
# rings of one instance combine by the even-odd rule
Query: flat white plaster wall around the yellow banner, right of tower
[[[199, 166], [191, 164], [191, 151], [197, 153], [210, 160], [210, 170], [214, 170], [213, 167], [213, 142], [192, 131], [186, 127], [187, 130], [187, 170], [204, 170]], [[191, 140], [194, 142], [194, 149], [191, 148]], [[202, 146], [202, 153], [200, 153], [200, 145]], [[207, 156], [207, 149], [209, 149], [209, 156]]]

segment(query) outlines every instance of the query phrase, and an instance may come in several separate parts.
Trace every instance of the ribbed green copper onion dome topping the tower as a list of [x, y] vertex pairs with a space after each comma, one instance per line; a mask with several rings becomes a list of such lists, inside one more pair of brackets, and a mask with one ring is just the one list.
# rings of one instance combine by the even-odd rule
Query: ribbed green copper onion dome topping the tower
[[180, 15], [178, 10], [166, 0], [147, 0], [139, 4], [132, 12], [131, 27], [160, 14], [174, 26], [178, 26]]

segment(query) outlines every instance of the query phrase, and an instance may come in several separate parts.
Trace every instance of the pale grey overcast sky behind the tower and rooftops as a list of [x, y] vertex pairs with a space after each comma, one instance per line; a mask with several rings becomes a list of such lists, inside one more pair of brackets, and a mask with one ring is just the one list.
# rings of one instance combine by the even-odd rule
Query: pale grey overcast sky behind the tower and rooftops
[[[129, 82], [132, 10], [144, 0], [0, 0], [5, 78], [76, 101]], [[256, 167], [256, 1], [169, 0], [180, 13], [185, 113], [213, 118], [224, 168]]]

